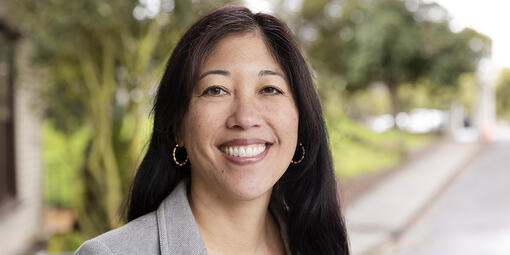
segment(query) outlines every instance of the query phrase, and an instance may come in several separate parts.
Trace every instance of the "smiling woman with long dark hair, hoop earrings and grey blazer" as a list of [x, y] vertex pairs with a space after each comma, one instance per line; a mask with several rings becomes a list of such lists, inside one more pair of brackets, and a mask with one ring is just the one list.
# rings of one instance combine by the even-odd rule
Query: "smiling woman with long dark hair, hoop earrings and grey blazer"
[[290, 30], [228, 6], [184, 34], [126, 225], [77, 254], [349, 254], [321, 106]]

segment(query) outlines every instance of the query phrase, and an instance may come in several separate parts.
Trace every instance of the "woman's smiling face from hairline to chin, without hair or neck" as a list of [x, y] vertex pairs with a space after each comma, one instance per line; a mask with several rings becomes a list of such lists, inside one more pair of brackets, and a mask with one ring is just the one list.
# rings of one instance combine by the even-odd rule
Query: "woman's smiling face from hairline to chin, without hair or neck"
[[270, 194], [296, 150], [298, 110], [262, 37], [221, 40], [199, 69], [181, 129], [193, 188], [240, 200]]

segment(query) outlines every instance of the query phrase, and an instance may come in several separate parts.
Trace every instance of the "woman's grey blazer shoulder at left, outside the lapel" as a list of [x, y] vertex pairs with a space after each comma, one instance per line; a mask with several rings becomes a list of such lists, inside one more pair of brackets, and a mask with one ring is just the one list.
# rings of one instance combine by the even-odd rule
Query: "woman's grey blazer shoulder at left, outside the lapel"
[[156, 212], [84, 242], [75, 255], [159, 254]]

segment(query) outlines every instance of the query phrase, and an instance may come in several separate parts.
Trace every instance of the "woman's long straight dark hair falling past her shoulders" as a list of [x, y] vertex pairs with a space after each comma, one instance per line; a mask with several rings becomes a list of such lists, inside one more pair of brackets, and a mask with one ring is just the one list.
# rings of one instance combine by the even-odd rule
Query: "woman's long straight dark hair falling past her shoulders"
[[131, 187], [128, 220], [156, 210], [189, 176], [190, 164], [178, 167], [171, 155], [198, 68], [221, 39], [252, 31], [262, 35], [289, 79], [299, 111], [299, 141], [306, 148], [306, 158], [289, 166], [271, 196], [286, 221], [290, 249], [294, 254], [349, 254], [322, 109], [308, 65], [283, 22], [239, 6], [204, 16], [175, 47], [155, 98], [154, 130]]

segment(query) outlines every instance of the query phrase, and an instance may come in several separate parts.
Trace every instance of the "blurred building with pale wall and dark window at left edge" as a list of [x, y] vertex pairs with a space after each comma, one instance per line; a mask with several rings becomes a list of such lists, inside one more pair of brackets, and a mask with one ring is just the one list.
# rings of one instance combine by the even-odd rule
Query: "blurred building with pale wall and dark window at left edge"
[[[13, 3], [14, 2], [14, 3]], [[30, 88], [40, 82], [30, 43], [0, 0], [0, 250], [23, 254], [42, 234], [40, 116]]]

